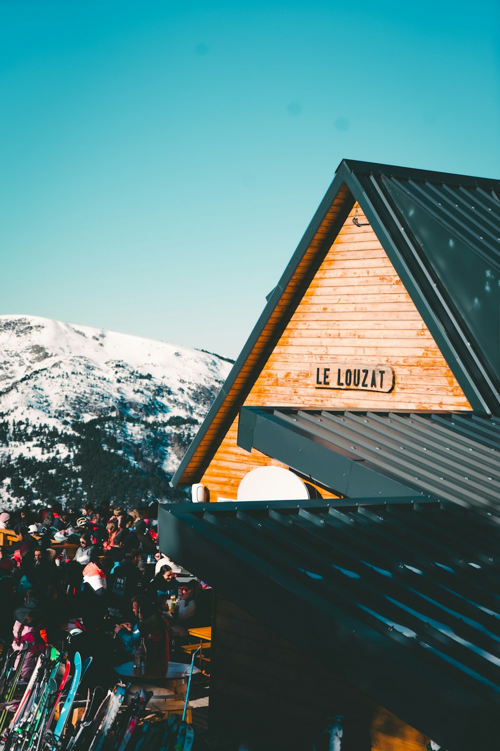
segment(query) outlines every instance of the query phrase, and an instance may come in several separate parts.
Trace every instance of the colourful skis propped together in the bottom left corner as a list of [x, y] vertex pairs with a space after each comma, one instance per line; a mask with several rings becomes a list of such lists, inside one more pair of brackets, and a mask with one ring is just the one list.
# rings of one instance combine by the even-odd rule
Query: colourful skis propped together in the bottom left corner
[[[79, 653], [73, 665], [54, 647], [46, 647], [37, 659], [28, 683], [20, 690], [19, 676], [25, 648], [10, 654], [0, 652], [0, 751], [191, 751], [193, 728], [184, 717], [145, 719], [152, 692], [144, 689], [129, 695], [129, 686], [117, 683], [104, 695], [97, 686], [79, 697], [79, 687], [91, 658], [82, 662]], [[70, 680], [70, 670], [73, 677]], [[75, 704], [76, 701], [76, 704]], [[73, 707], [83, 707], [74, 727]], [[56, 710], [59, 713], [56, 717]]]

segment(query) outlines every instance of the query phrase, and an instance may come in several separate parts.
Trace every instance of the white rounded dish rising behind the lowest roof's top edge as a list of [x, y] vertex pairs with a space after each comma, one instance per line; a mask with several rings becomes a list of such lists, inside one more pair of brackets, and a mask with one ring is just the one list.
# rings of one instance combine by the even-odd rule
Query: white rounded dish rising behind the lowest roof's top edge
[[310, 496], [300, 477], [283, 467], [258, 467], [241, 480], [238, 501], [306, 501]]

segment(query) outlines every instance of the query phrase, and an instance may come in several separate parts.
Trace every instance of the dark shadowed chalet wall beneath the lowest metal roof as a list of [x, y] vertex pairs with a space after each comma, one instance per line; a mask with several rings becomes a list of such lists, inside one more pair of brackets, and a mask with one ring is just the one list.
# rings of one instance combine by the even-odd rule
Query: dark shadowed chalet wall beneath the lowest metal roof
[[340, 683], [321, 660], [307, 658], [218, 593], [211, 645], [209, 726], [214, 734], [232, 736], [235, 743], [245, 738], [259, 751], [304, 751], [313, 748], [328, 718], [338, 713], [345, 718], [346, 751], [422, 751], [427, 746], [427, 737]]

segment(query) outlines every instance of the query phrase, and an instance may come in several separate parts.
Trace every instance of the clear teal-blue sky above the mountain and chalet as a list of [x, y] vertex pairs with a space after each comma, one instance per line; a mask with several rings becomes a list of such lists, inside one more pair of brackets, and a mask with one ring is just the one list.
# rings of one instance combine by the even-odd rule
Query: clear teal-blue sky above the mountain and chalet
[[235, 357], [342, 158], [500, 177], [498, 2], [0, 2], [0, 313]]

